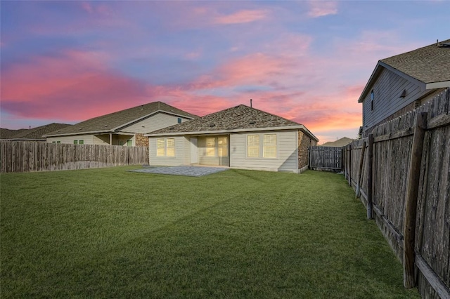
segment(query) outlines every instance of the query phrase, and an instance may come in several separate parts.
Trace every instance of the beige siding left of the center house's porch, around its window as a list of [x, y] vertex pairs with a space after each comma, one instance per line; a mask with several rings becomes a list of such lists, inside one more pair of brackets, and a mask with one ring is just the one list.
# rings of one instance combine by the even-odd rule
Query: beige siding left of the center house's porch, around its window
[[[158, 139], [162, 139], [164, 137], [158, 137], [158, 138], [150, 138], [148, 140], [149, 142], [149, 158], [150, 158], [150, 165], [153, 166], [179, 166], [179, 165], [185, 165], [184, 159], [185, 159], [185, 151], [189, 151], [189, 148], [186, 149], [186, 138], [184, 136], [176, 136], [176, 137], [169, 137], [169, 139], [174, 139], [175, 142], [175, 157], [157, 157], [157, 142]], [[167, 139], [167, 138], [164, 138]]]

